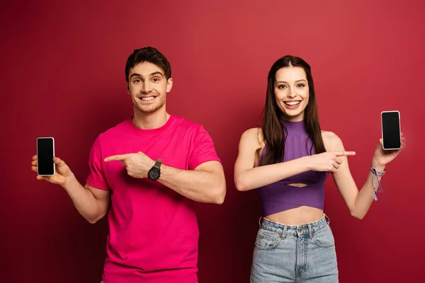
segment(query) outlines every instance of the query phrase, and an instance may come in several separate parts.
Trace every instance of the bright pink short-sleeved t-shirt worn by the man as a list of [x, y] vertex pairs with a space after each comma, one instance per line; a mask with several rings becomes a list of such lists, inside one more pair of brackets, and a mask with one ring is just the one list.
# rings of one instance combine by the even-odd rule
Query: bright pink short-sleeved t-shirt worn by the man
[[99, 135], [87, 183], [111, 190], [103, 282], [195, 283], [199, 231], [193, 201], [158, 181], [130, 177], [120, 161], [103, 161], [138, 151], [183, 170], [221, 162], [203, 126], [172, 115], [158, 129], [140, 129], [128, 119]]

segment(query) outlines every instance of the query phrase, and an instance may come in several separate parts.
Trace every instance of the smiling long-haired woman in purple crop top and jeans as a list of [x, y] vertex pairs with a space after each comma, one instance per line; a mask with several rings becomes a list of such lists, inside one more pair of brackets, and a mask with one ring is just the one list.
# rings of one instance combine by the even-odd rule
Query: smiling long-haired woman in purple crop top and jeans
[[242, 134], [234, 165], [237, 190], [258, 188], [263, 204], [251, 282], [338, 282], [324, 182], [331, 172], [351, 215], [362, 219], [377, 199], [385, 165], [400, 151], [384, 151], [380, 139], [359, 192], [348, 168], [355, 152], [320, 129], [309, 64], [278, 59], [268, 73], [263, 125]]

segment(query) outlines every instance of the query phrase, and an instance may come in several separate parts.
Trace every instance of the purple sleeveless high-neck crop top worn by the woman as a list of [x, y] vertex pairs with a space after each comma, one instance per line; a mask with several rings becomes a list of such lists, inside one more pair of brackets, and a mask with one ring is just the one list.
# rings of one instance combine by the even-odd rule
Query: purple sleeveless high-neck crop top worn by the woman
[[[315, 154], [314, 146], [312, 147], [312, 141], [308, 137], [304, 121], [289, 122], [281, 119], [280, 122], [288, 129], [283, 162]], [[311, 148], [312, 152], [310, 154]], [[259, 166], [261, 166], [261, 159], [265, 151], [266, 146], [264, 146], [263, 152], [261, 152]], [[276, 183], [259, 187], [263, 216], [303, 205], [323, 209], [324, 181], [328, 175], [328, 172], [306, 171]], [[288, 185], [291, 183], [303, 183], [306, 186], [294, 187]]]

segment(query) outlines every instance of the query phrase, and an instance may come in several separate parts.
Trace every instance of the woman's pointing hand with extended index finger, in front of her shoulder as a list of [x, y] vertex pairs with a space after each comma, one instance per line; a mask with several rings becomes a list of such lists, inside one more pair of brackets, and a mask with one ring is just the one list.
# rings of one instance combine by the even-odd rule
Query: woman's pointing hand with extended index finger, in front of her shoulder
[[309, 156], [309, 167], [312, 171], [329, 171], [335, 173], [342, 163], [341, 156], [356, 155], [354, 151], [327, 151]]

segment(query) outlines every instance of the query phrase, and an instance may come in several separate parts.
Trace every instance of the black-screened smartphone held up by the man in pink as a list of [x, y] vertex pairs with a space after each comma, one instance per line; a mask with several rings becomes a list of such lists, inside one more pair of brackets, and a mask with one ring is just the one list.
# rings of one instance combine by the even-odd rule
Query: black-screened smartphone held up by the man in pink
[[38, 175], [55, 175], [55, 139], [52, 137], [39, 137], [37, 139]]

